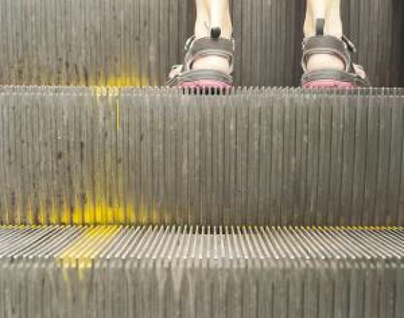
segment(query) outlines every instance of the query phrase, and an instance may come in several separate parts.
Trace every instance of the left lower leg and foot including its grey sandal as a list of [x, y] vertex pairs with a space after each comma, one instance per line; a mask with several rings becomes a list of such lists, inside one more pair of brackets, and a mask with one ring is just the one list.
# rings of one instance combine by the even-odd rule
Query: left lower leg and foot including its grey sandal
[[230, 0], [195, 0], [194, 36], [182, 65], [173, 66], [167, 85], [229, 88], [233, 84], [234, 43]]

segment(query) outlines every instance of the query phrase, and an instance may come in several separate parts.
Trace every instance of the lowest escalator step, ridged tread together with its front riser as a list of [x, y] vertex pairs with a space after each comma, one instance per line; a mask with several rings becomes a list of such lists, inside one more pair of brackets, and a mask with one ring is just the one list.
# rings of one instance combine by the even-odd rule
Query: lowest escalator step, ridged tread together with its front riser
[[0, 227], [0, 317], [402, 317], [403, 228]]

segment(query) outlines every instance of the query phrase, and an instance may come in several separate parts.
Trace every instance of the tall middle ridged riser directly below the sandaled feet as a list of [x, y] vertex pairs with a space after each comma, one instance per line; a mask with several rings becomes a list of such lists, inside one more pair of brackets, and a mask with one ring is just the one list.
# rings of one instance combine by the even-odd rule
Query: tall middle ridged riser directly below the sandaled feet
[[400, 89], [1, 90], [2, 224], [404, 225]]

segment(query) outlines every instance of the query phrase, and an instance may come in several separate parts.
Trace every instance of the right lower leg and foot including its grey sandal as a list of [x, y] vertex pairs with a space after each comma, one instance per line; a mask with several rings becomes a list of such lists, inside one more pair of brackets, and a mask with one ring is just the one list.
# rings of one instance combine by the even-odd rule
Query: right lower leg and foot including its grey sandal
[[369, 86], [362, 66], [351, 61], [355, 48], [343, 37], [341, 0], [307, 0], [302, 86]]

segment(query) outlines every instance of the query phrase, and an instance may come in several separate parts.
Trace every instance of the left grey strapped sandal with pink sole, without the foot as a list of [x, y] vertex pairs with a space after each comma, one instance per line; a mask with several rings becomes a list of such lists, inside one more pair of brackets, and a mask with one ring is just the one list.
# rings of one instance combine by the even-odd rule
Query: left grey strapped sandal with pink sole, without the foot
[[219, 37], [206, 37], [195, 39], [192, 36], [185, 45], [185, 61], [182, 65], [173, 66], [169, 75], [167, 86], [180, 88], [214, 88], [228, 89], [233, 85], [233, 76], [218, 70], [193, 70], [196, 59], [206, 56], [220, 56], [228, 59], [230, 74], [233, 73], [234, 40]]

